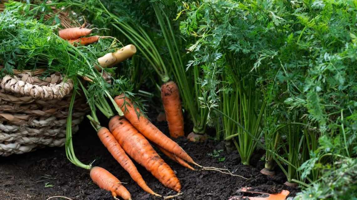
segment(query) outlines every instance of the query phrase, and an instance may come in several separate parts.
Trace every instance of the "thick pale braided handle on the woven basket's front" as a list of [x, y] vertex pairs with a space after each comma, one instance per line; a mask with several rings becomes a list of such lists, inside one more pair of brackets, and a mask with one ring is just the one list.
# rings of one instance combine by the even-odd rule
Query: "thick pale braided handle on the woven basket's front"
[[1, 88], [21, 96], [31, 96], [36, 99], [62, 99], [64, 96], [71, 93], [73, 89], [72, 80], [62, 80], [58, 84], [34, 85], [17, 78], [12, 78], [6, 75], [1, 80]]

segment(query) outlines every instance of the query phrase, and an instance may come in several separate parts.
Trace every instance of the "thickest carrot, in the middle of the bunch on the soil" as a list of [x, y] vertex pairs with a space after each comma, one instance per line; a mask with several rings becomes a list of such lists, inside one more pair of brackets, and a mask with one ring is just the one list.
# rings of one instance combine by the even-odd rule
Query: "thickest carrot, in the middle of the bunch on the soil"
[[137, 163], [145, 167], [167, 188], [177, 192], [181, 191], [180, 181], [174, 171], [129, 121], [124, 117], [114, 116], [109, 121], [109, 130], [125, 152]]

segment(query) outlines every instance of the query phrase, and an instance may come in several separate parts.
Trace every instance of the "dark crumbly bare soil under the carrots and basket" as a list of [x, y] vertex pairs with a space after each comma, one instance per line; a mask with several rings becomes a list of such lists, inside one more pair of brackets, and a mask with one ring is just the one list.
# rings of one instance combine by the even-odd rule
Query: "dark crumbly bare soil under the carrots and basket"
[[[168, 133], [165, 122], [156, 125]], [[88, 121], [85, 120], [81, 124], [80, 132], [73, 140], [78, 159], [86, 164], [95, 160], [93, 165], [103, 167], [114, 174], [121, 182], [126, 183], [124, 186], [130, 191], [133, 200], [162, 199], [145, 193], [137, 186], [100, 143]], [[252, 166], [247, 166], [240, 164], [237, 152], [228, 154], [222, 142], [191, 143], [184, 139], [177, 142], [197, 163], [227, 168], [233, 174], [248, 180], [215, 171], [192, 171], [159, 153], [180, 179], [182, 195], [175, 197], [176, 200], [228, 200], [231, 196], [247, 196], [247, 193], [239, 193], [238, 190], [242, 187], [253, 187], [255, 191], [266, 193], [278, 193], [285, 189], [291, 191], [290, 196], [298, 192], [297, 189], [283, 185], [286, 178], [280, 170], [276, 171], [277, 175], [273, 178], [260, 173], [264, 167], [263, 161], [260, 160], [262, 151], [254, 154]], [[217, 157], [208, 156], [213, 150], [220, 149], [223, 151]], [[147, 185], [156, 193], [164, 196], [176, 194], [165, 188], [139, 164], [136, 165]], [[0, 157], [0, 200], [45, 200], [51, 196], [66, 196], [73, 200], [113, 199], [108, 191], [101, 190], [92, 183], [88, 170], [76, 167], [67, 160], [64, 147], [46, 147], [21, 155]]]

